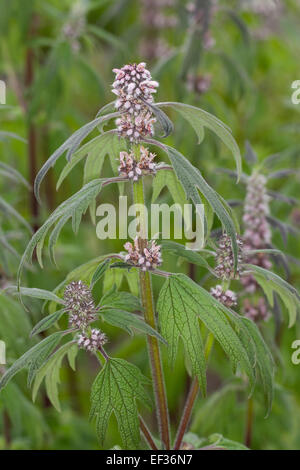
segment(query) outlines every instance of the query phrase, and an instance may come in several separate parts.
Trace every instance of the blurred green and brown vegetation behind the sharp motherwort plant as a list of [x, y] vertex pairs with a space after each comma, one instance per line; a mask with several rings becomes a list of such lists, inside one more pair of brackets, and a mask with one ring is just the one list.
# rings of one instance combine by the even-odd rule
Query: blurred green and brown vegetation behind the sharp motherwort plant
[[[58, 162], [45, 180], [45, 204], [39, 206], [32, 192], [37, 170], [74, 130], [111, 101], [107, 84], [112, 82], [112, 68], [140, 60], [147, 61], [153, 78], [160, 82], [157, 101], [163, 96], [214, 113], [230, 125], [248, 156], [246, 141], [251, 142], [256, 165], [265, 168], [267, 189], [271, 197], [273, 194], [268, 202], [272, 245], [288, 253], [286, 275], [299, 288], [300, 246], [293, 235], [297, 235], [300, 225], [300, 107], [291, 102], [291, 84], [299, 78], [299, 1], [1, 0], [0, 5], [0, 78], [7, 84], [6, 105], [0, 108], [2, 289], [14, 279], [17, 253], [23, 252], [28, 241], [28, 227], [20, 217], [36, 230], [46, 214], [81, 186], [82, 167], [78, 165], [72, 178], [67, 178], [56, 192], [55, 182], [62, 168]], [[245, 186], [215, 171], [216, 167], [233, 168], [227, 150], [209, 132], [196, 146], [193, 130], [175, 114], [172, 120], [176, 133], [168, 137], [167, 143], [186, 155], [209, 184], [231, 201], [242, 223], [238, 201], [245, 198]], [[295, 174], [270, 178], [282, 168]], [[105, 161], [103, 170], [109, 174], [109, 162]], [[245, 175], [251, 172], [251, 162], [244, 159]], [[106, 189], [103, 194], [109, 202], [117, 202], [117, 191]], [[157, 196], [159, 202], [170, 200], [163, 185]], [[20, 216], [13, 217], [5, 204]], [[47, 259], [43, 271], [34, 265], [26, 271], [27, 286], [52, 290], [77, 266], [122, 249], [124, 241], [98, 240], [88, 215], [84, 220], [76, 238], [71, 228], [66, 227], [62, 233], [56, 250], [59, 269]], [[168, 263], [166, 270], [188, 272], [200, 284], [210, 285], [202, 268], [176, 259], [168, 259]], [[274, 272], [284, 277], [286, 266], [277, 256], [272, 263]], [[126, 279], [117, 269], [111, 271], [114, 274], [105, 278], [104, 290], [114, 282], [124, 290], [128, 283], [136, 289], [134, 279]], [[154, 288], [158, 285], [156, 280]], [[0, 339], [7, 343], [8, 365], [33, 344], [29, 332], [31, 324], [41, 317], [42, 305], [38, 300], [26, 305], [28, 312], [6, 291], [0, 296]], [[253, 448], [300, 448], [300, 375], [299, 366], [291, 361], [291, 344], [300, 338], [300, 331], [299, 323], [287, 328], [287, 321], [282, 320], [285, 315], [285, 311], [280, 314], [275, 310], [261, 323], [275, 353], [277, 386], [273, 410], [266, 420], [263, 400], [259, 393], [254, 396]], [[120, 336], [114, 327], [108, 327], [108, 333], [115, 345], [114, 354], [147, 372], [143, 337], [128, 337], [125, 333]], [[209, 396], [197, 400], [192, 431], [203, 437], [220, 433], [242, 442], [249, 409], [241, 381], [228, 383], [229, 366], [221, 357], [216, 347], [209, 369]], [[76, 373], [68, 367], [63, 367], [61, 373], [60, 414], [49, 406], [46, 395], [32, 404], [24, 375], [1, 392], [0, 448], [98, 448], [93, 426], [86, 419], [96, 364], [85, 355], [78, 356], [77, 361]], [[182, 351], [175, 373], [166, 368], [166, 381], [175, 426], [175, 411], [183, 406], [190, 385]], [[106, 448], [116, 444], [120, 444], [120, 438], [113, 422]]]

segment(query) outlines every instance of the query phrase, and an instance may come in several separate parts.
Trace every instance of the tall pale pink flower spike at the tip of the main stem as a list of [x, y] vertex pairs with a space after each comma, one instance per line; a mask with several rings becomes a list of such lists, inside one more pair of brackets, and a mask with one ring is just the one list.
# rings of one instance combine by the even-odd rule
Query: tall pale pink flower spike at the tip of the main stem
[[149, 108], [154, 102], [158, 82], [152, 80], [146, 64], [124, 65], [121, 69], [113, 69], [116, 79], [112, 92], [117, 95], [115, 107], [122, 116], [116, 120], [119, 135], [131, 142], [138, 142], [143, 137], [152, 136], [155, 118]]

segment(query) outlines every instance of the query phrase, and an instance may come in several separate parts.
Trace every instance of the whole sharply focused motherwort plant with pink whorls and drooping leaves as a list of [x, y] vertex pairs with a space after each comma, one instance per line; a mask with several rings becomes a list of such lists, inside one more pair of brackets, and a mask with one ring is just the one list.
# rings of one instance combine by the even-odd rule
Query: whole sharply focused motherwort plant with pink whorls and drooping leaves
[[[226, 201], [206, 182], [199, 169], [194, 167], [177, 149], [157, 140], [157, 129], [163, 130], [166, 137], [173, 131], [173, 124], [162, 110], [178, 112], [194, 128], [199, 141], [204, 137], [204, 128], [213, 131], [232, 152], [241, 174], [241, 158], [238, 146], [230, 129], [219, 119], [206, 111], [182, 103], [155, 103], [154, 94], [158, 83], [151, 77], [146, 64], [129, 64], [114, 69], [113, 92], [116, 101], [104, 106], [97, 117], [77, 130], [54, 152], [44, 164], [36, 178], [35, 193], [38, 199], [40, 184], [48, 169], [67, 152], [67, 163], [59, 178], [58, 186], [80, 161], [85, 160], [83, 186], [68, 200], [64, 201], [34, 234], [23, 255], [19, 268], [19, 283], [16, 290], [21, 296], [33, 295], [48, 303], [49, 315], [42, 318], [32, 334], [39, 334], [54, 325], [60, 324], [63, 315], [69, 316], [69, 327], [46, 336], [41, 342], [18, 359], [2, 377], [0, 386], [23, 368], [28, 369], [28, 384], [33, 385], [33, 395], [45, 379], [50, 400], [59, 409], [57, 384], [59, 368], [65, 355], [74, 367], [78, 348], [98, 357], [100, 372], [91, 390], [91, 417], [95, 418], [97, 434], [103, 444], [109, 417], [115, 414], [126, 448], [138, 448], [142, 433], [145, 442], [153, 449], [180, 449], [184, 442], [190, 415], [200, 389], [206, 394], [206, 369], [214, 340], [227, 354], [233, 371], [247, 377], [249, 392], [252, 393], [257, 381], [262, 383], [270, 410], [273, 390], [273, 361], [256, 325], [240, 316], [231, 307], [236, 305], [236, 296], [229, 289], [247, 270], [255, 279], [265, 279], [270, 291], [280, 289], [284, 301], [294, 311], [299, 306], [299, 297], [294, 289], [264, 268], [253, 267], [245, 262], [244, 245], [237, 235], [239, 229], [233, 213]], [[103, 126], [114, 119], [116, 128], [104, 131]], [[81, 142], [94, 129], [99, 135], [80, 147]], [[154, 150], [163, 152], [170, 165], [155, 162]], [[113, 175], [101, 178], [104, 157], [111, 161]], [[118, 163], [116, 164], [116, 159]], [[173, 195], [182, 195], [182, 203], [190, 200], [195, 207], [206, 201], [205, 243], [212, 246], [210, 227], [215, 215], [220, 221], [223, 235], [216, 250], [203, 248], [199, 252], [186, 249], [183, 245], [164, 241], [149, 240], [145, 216], [144, 180], [150, 175], [155, 187], [161, 174], [165, 181], [172, 178]], [[95, 219], [95, 200], [104, 186], [117, 183], [131, 185], [132, 198], [138, 212], [136, 238], [125, 244], [125, 251], [98, 256], [86, 265], [76, 268], [67, 276], [54, 292], [28, 289], [20, 286], [20, 278], [25, 263], [28, 263], [36, 249], [37, 259], [42, 265], [44, 243], [49, 234], [50, 258], [55, 261], [54, 246], [59, 233], [71, 219], [76, 232], [82, 215], [90, 209]], [[175, 188], [175, 190], [174, 190]], [[174, 197], [174, 196], [173, 196]], [[169, 254], [205, 268], [217, 279], [217, 285], [209, 293], [193, 282], [185, 274], [163, 270], [163, 259]], [[215, 258], [214, 266], [210, 259]], [[259, 271], [257, 271], [259, 269]], [[120, 283], [111, 283], [111, 289], [103, 282], [102, 298], [94, 301], [94, 293], [99, 292], [99, 280], [109, 278], [111, 272], [128, 279], [133, 292], [132, 275], [138, 281], [140, 296], [133, 292], [120, 292]], [[103, 277], [104, 276], [104, 277]], [[155, 299], [152, 291], [152, 278], [158, 276], [161, 288]], [[116, 279], [116, 278], [115, 278]], [[107, 285], [107, 283], [106, 283]], [[57, 310], [57, 305], [60, 309]], [[105, 334], [103, 322], [131, 332], [139, 330], [147, 335], [151, 381], [140, 370], [124, 359], [110, 354], [110, 341]], [[187, 369], [194, 381], [182, 413], [175, 440], [171, 433], [164, 369], [161, 348], [165, 348], [170, 364], [177, 356], [178, 342], [184, 344]], [[58, 345], [63, 343], [58, 348]], [[142, 417], [143, 406], [151, 406], [145, 386], [151, 385], [155, 398], [154, 409], [157, 417], [157, 436], [152, 438]], [[138, 403], [139, 402], [139, 403]], [[174, 423], [175, 425], [177, 423]]]

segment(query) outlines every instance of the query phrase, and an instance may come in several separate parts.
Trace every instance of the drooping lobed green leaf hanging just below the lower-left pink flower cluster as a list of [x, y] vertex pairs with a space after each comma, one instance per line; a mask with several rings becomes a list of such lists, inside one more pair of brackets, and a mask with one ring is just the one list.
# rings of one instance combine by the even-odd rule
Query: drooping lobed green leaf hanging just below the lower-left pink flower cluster
[[35, 376], [33, 388], [32, 388], [32, 399], [35, 401], [37, 392], [41, 386], [43, 379], [45, 379], [46, 392], [51, 401], [52, 405], [61, 411], [60, 403], [58, 399], [58, 384], [60, 383], [60, 368], [62, 361], [66, 354], [69, 353], [71, 348], [77, 350], [77, 345], [74, 341], [61, 346], [54, 354], [45, 362], [45, 364], [39, 369]]

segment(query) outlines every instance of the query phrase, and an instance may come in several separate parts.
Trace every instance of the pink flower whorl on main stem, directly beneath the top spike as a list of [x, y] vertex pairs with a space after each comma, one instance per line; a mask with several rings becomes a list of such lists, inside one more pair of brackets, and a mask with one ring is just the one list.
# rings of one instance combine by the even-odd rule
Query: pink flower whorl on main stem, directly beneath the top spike
[[132, 152], [120, 152], [119, 174], [127, 176], [133, 181], [137, 181], [144, 173], [156, 173], [156, 164], [153, 162], [155, 153], [140, 147], [140, 160], [136, 161]]

